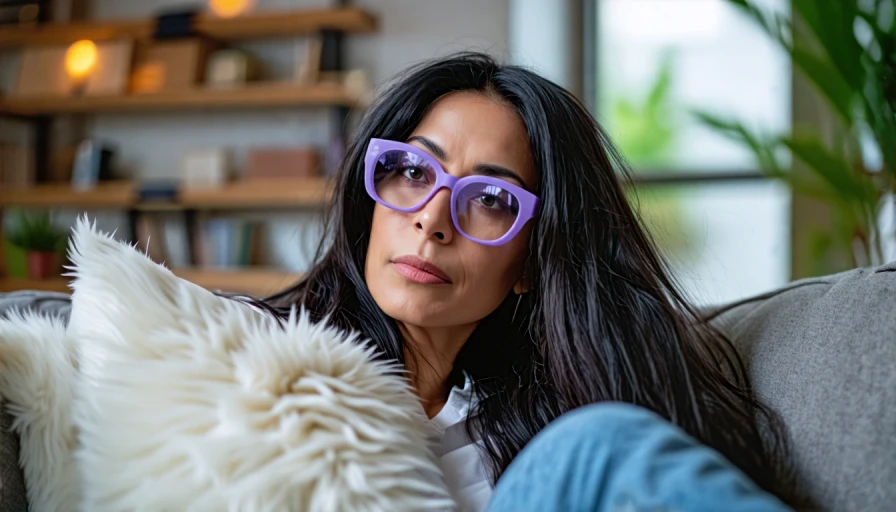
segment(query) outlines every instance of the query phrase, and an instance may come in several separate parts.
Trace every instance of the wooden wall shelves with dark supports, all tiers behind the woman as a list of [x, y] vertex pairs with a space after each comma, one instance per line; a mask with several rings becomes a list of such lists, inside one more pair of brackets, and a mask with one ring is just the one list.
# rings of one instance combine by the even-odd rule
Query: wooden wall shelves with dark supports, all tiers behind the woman
[[[155, 19], [145, 18], [50, 23], [32, 27], [3, 26], [0, 27], [0, 49], [67, 45], [81, 39], [97, 42], [119, 39], [147, 41], [153, 38], [155, 23]], [[190, 90], [157, 94], [52, 97], [0, 95], [0, 115], [15, 116], [32, 125], [33, 138], [40, 142], [35, 142], [34, 161], [44, 171], [47, 168], [47, 155], [52, 149], [49, 143], [50, 124], [47, 121], [56, 115], [326, 107], [335, 117], [338, 127], [336, 136], [344, 142], [349, 111], [364, 105], [360, 104], [357, 93], [331, 78], [338, 77], [345, 71], [342, 57], [345, 34], [374, 32], [377, 25], [377, 19], [373, 15], [354, 7], [261, 11], [230, 19], [199, 14], [193, 21], [193, 35], [220, 42], [317, 35], [323, 45], [320, 69], [328, 73], [328, 79], [309, 85], [296, 82], [255, 82], [238, 89], [211, 89], [197, 85]], [[46, 176], [46, 172], [37, 174]], [[27, 188], [0, 189], [0, 216], [4, 209], [10, 207], [115, 209], [128, 213], [130, 232], [133, 235], [141, 215], [184, 212], [189, 233], [195, 230], [196, 214], [201, 216], [199, 212], [202, 211], [320, 208], [331, 197], [332, 183], [322, 178], [235, 182], [216, 189], [181, 190], [176, 198], [165, 201], [141, 201], [139, 184], [128, 181], [105, 182], [85, 191], [73, 190], [67, 184], [39, 184]], [[189, 260], [189, 264], [198, 264], [195, 252]], [[175, 270], [175, 273], [206, 288], [254, 296], [282, 290], [300, 278], [294, 273], [257, 267], [228, 270], [184, 268]], [[3, 276], [0, 272], [0, 292], [22, 289], [69, 292], [68, 284], [68, 279], [62, 277], [30, 280]]]

